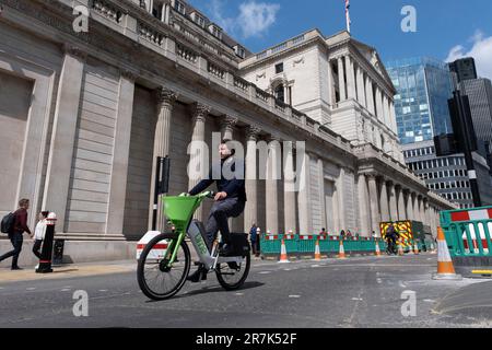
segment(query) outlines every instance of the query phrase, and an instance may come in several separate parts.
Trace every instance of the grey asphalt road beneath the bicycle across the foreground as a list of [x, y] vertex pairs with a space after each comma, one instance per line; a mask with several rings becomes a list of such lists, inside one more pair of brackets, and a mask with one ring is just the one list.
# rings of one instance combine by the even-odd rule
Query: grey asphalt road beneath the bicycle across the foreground
[[[491, 327], [492, 282], [434, 281], [435, 269], [435, 255], [256, 260], [239, 291], [209, 275], [163, 302], [140, 292], [134, 272], [0, 281], [0, 327]], [[86, 317], [73, 314], [78, 290], [89, 295]]]

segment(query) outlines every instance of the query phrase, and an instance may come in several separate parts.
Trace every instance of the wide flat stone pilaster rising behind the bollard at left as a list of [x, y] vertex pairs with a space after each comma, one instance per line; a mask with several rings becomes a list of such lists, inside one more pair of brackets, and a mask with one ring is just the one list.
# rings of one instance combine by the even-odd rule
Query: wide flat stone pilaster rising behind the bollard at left
[[65, 46], [43, 196], [43, 208], [49, 208], [50, 211], [57, 213], [57, 229], [60, 232], [67, 230], [67, 198], [70, 187], [73, 143], [79, 119], [85, 57], [85, 54], [78, 48]]

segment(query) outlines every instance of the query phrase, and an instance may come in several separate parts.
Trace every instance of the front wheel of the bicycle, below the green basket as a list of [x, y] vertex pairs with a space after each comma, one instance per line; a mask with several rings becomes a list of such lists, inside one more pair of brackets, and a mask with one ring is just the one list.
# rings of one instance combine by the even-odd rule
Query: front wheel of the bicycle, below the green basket
[[166, 300], [175, 295], [185, 284], [191, 257], [188, 245], [181, 242], [176, 260], [169, 267], [171, 250], [177, 234], [163, 233], [145, 245], [137, 268], [137, 280], [143, 294], [152, 300]]

